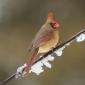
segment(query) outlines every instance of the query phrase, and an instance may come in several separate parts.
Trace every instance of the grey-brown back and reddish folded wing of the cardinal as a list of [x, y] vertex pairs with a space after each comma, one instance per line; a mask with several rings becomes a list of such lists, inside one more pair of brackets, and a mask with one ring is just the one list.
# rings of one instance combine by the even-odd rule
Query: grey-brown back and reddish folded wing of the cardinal
[[[32, 42], [32, 46], [34, 48], [38, 48], [39, 46], [44, 45], [47, 41], [52, 39], [53, 31], [49, 30], [49, 28], [46, 29], [45, 27], [44, 28], [42, 27], [35, 36], [35, 39]], [[51, 26], [48, 25], [47, 27]]]

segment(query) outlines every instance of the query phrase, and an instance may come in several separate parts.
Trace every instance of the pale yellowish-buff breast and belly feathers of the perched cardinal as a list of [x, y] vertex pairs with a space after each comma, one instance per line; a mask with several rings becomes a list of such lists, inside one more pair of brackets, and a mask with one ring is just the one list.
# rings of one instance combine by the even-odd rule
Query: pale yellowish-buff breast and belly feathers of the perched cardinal
[[52, 38], [47, 41], [45, 44], [39, 47], [38, 53], [46, 53], [51, 50], [53, 47], [57, 45], [59, 41], [59, 33], [58, 31], [54, 31]]

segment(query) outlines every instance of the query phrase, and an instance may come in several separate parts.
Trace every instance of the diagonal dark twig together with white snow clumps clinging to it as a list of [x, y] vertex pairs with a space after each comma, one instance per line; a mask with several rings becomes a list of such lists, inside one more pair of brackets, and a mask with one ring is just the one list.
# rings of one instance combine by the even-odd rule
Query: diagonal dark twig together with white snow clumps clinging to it
[[[61, 44], [59, 44], [58, 46], [56, 46], [55, 48], [53, 48], [51, 51], [49, 51], [48, 53], [46, 53], [44, 56], [41, 56], [38, 60], [36, 60], [33, 63], [33, 65], [31, 67], [31, 70], [29, 71], [29, 73], [34, 72], [35, 74], [39, 75], [40, 73], [42, 73], [44, 71], [44, 69], [43, 69], [43, 66], [44, 65], [46, 67], [48, 67], [48, 68], [51, 68], [52, 66], [49, 63], [49, 61], [53, 61], [54, 60], [54, 56], [52, 56], [52, 53], [56, 53], [57, 56], [61, 56], [62, 53], [63, 53], [64, 48], [67, 47], [67, 46], [69, 46], [73, 41], [82, 42], [84, 40], [85, 40], [85, 29], [81, 30], [79, 33], [77, 33], [76, 35], [72, 36], [68, 40], [62, 42]], [[18, 77], [22, 76], [22, 71], [23, 71], [23, 69], [26, 66], [27, 66], [26, 64], [20, 66], [17, 69], [17, 72], [15, 74], [11, 75], [8, 79], [2, 81], [0, 83], [0, 85], [3, 85], [5, 83], [7, 83], [8, 81], [10, 81], [13, 78], [18, 78]]]

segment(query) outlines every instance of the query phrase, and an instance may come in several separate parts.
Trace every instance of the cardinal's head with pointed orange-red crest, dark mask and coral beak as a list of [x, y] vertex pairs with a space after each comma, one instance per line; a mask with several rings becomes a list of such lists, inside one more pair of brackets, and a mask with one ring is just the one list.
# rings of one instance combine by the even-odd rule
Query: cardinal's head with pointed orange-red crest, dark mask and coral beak
[[47, 21], [46, 21], [46, 22], [47, 22], [48, 24], [50, 24], [53, 29], [58, 29], [58, 28], [59, 28], [59, 24], [58, 24], [57, 21], [55, 20], [55, 17], [54, 17], [54, 15], [53, 15], [52, 12], [50, 12], [50, 13], [48, 14], [48, 17], [47, 17]]

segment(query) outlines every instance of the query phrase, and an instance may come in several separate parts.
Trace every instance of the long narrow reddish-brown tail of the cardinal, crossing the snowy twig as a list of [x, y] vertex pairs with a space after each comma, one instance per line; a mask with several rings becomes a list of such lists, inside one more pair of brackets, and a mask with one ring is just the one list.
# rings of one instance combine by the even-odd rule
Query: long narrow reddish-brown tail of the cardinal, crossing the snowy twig
[[32, 53], [32, 55], [30, 57], [30, 59], [28, 59], [28, 61], [26, 63], [27, 64], [27, 67], [24, 68], [23, 73], [22, 73], [23, 76], [26, 76], [27, 75], [27, 73], [31, 69], [32, 64], [36, 61], [36, 59], [37, 59], [37, 53], [38, 53], [38, 48], [34, 50], [34, 52]]

